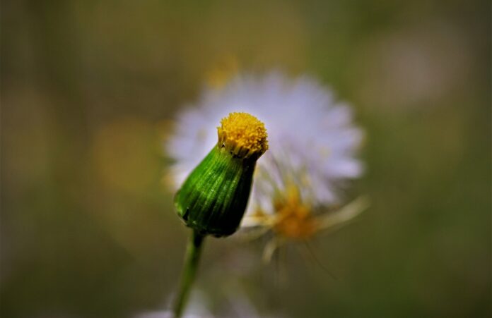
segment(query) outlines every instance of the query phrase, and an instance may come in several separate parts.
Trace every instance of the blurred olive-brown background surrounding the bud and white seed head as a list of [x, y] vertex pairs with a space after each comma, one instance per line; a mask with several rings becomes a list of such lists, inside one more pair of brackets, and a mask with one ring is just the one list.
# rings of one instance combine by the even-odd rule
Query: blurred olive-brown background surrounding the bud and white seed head
[[[1, 317], [168, 306], [187, 231], [163, 135], [206, 82], [307, 73], [367, 133], [358, 221], [261, 263], [210, 239], [222, 317], [490, 317], [490, 1], [2, 1]], [[239, 308], [239, 309], [238, 309]]]

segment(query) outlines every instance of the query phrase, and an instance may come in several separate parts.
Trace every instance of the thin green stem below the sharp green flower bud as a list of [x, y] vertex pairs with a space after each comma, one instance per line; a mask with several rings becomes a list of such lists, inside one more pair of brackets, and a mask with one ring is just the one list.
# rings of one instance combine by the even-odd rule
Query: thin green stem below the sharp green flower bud
[[204, 242], [204, 235], [192, 230], [186, 248], [185, 264], [181, 276], [180, 291], [177, 293], [173, 312], [175, 318], [180, 318], [186, 307], [189, 290], [192, 287], [194, 277], [197, 274], [198, 263], [200, 261], [201, 247]]

